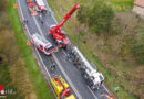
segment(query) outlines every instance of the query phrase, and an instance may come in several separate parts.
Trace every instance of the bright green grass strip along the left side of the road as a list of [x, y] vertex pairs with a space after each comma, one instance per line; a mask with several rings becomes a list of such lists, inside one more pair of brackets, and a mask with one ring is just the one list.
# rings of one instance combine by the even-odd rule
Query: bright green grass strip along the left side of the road
[[25, 61], [25, 68], [29, 72], [29, 77], [33, 84], [33, 91], [37, 94], [38, 99], [53, 99], [53, 94], [48, 89], [48, 84], [44, 81], [40, 74], [37, 62], [32, 56], [30, 47], [27, 46], [27, 37], [23, 33], [18, 12], [13, 9], [14, 0], [9, 0], [9, 9], [7, 11], [10, 24], [14, 31], [18, 46]]

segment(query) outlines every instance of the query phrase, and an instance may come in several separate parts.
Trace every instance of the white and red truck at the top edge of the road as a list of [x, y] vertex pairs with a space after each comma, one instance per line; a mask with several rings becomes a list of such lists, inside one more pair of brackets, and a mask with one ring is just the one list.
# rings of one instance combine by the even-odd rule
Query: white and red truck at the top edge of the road
[[47, 13], [47, 7], [45, 7], [43, 0], [35, 0], [35, 3], [38, 6], [38, 11], [45, 14]]

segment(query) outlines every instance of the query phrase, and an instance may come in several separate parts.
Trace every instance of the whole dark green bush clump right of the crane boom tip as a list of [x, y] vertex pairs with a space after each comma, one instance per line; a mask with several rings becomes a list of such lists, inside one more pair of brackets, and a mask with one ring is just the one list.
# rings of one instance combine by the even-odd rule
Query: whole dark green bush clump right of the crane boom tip
[[111, 7], [97, 1], [93, 8], [82, 7], [76, 18], [81, 23], [89, 24], [94, 33], [107, 33], [112, 30], [114, 11]]

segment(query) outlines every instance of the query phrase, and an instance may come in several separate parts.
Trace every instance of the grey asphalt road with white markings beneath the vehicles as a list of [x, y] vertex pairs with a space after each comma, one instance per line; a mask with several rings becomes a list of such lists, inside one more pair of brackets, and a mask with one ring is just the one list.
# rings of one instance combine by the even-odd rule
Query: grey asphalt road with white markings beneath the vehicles
[[[47, 3], [45, 0], [44, 2]], [[49, 12], [50, 8], [48, 3], [47, 3], [48, 13], [45, 14], [45, 16], [42, 18], [43, 24], [41, 23], [38, 16], [30, 15], [25, 0], [18, 0], [18, 6], [20, 9], [21, 18], [22, 19], [27, 18], [29, 20], [27, 24], [27, 31], [29, 33], [29, 36], [31, 36], [33, 33], [39, 33], [54, 44], [51, 36], [48, 35], [48, 32], [49, 26], [52, 24], [56, 24], [56, 21], [53, 14]], [[54, 73], [50, 72], [50, 64], [51, 64], [50, 56], [44, 55], [38, 50], [35, 50], [35, 52], [38, 53], [40, 61], [43, 63], [43, 66], [47, 69], [48, 78], [50, 78], [51, 75], [53, 74], [61, 75], [71, 86], [72, 94], [76, 97], [76, 99], [106, 99], [104, 97], [99, 97], [99, 95], [107, 94], [109, 92], [107, 89], [104, 86], [102, 86], [97, 90], [91, 90], [85, 84], [84, 79], [82, 78], [80, 70], [76, 67], [74, 67], [70, 62], [66, 61], [65, 51], [52, 54], [56, 63], [56, 70]]]

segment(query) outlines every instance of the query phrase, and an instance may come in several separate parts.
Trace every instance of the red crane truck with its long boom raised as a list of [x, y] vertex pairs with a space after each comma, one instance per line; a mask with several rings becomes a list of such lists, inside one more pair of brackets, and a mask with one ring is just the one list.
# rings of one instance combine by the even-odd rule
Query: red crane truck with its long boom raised
[[80, 9], [79, 4], [75, 4], [73, 9], [63, 18], [63, 20], [58, 25], [54, 24], [50, 26], [49, 33], [55, 40], [59, 47], [64, 48], [70, 42], [66, 37], [66, 33], [62, 31], [61, 26], [63, 26], [63, 24], [69, 20], [69, 18], [71, 18], [72, 13], [74, 13], [76, 9]]

